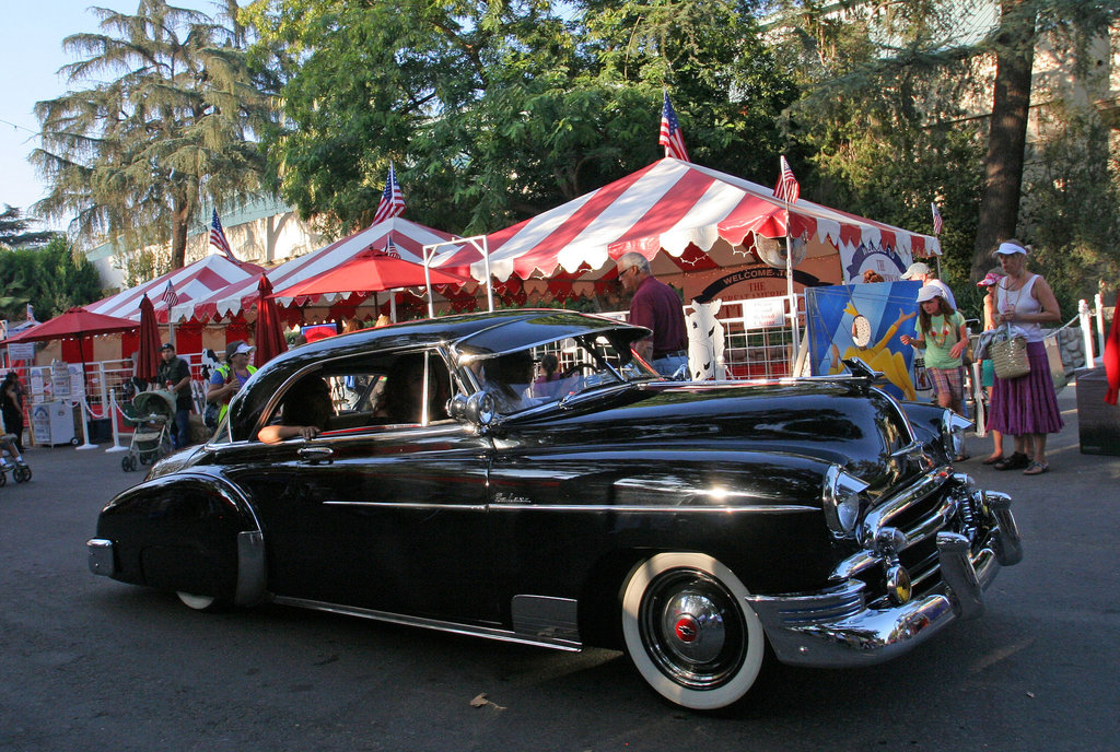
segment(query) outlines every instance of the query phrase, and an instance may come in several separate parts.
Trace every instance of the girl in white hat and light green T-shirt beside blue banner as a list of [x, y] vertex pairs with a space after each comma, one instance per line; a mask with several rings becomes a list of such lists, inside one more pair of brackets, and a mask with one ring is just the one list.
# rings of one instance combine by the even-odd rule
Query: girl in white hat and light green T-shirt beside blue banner
[[[917, 338], [899, 337], [903, 345], [925, 350], [925, 369], [933, 379], [937, 404], [964, 413], [964, 364], [961, 356], [969, 345], [964, 317], [945, 299], [940, 286], [926, 284], [917, 291]], [[967, 459], [958, 455], [956, 461]]]

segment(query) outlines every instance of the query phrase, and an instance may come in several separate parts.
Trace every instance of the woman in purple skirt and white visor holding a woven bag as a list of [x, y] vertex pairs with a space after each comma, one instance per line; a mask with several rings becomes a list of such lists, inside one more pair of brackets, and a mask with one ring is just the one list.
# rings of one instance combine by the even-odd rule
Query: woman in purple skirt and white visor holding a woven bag
[[1025, 476], [1040, 476], [1046, 463], [1046, 434], [1062, 430], [1062, 413], [1051, 376], [1039, 325], [1062, 320], [1054, 291], [1038, 274], [1027, 271], [1027, 248], [1018, 241], [996, 250], [1007, 275], [996, 285], [996, 323], [1009, 325], [1011, 335], [1027, 339], [1030, 373], [1018, 378], [996, 377], [988, 413], [988, 430], [1015, 438], [1015, 453], [995, 464], [997, 470], [1025, 468]]

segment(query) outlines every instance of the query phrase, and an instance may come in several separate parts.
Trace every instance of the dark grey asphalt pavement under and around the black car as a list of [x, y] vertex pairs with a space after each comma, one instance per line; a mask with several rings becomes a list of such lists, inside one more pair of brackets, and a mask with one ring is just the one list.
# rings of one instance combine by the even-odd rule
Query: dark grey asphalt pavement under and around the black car
[[961, 469], [1009, 492], [1021, 564], [987, 612], [897, 660], [778, 667], [716, 714], [661, 702], [625, 656], [562, 654], [267, 605], [209, 615], [92, 575], [97, 513], [142, 473], [36, 449], [0, 488], [0, 750], [1104, 750], [1120, 741], [1120, 457]]

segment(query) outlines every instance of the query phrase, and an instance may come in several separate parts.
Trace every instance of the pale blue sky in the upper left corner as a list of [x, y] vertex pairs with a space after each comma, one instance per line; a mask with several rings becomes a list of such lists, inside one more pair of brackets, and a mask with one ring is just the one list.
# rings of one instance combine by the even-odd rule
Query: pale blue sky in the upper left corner
[[[75, 62], [63, 53], [64, 38], [96, 31], [92, 6], [136, 12], [138, 0], [0, 0], [0, 204], [25, 212], [46, 194], [27, 162], [38, 147], [35, 103], [66, 91], [56, 72]], [[214, 12], [213, 0], [178, 0], [179, 7]]]

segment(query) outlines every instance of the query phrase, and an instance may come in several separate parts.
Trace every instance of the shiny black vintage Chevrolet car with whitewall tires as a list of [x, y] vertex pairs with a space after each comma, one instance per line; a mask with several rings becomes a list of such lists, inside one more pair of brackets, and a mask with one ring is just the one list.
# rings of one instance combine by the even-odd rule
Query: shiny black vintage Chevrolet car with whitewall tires
[[[196, 609], [272, 601], [622, 648], [668, 699], [715, 708], [771, 654], [906, 651], [978, 615], [1021, 557], [1010, 499], [949, 464], [963, 419], [899, 404], [859, 361], [665, 382], [631, 355], [645, 335], [530, 310], [297, 348], [208, 444], [109, 502], [90, 566]], [[327, 389], [321, 433], [260, 439]]]

